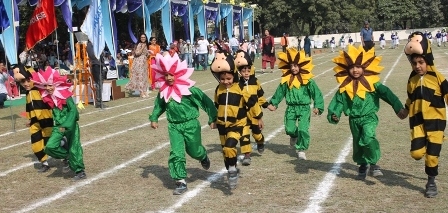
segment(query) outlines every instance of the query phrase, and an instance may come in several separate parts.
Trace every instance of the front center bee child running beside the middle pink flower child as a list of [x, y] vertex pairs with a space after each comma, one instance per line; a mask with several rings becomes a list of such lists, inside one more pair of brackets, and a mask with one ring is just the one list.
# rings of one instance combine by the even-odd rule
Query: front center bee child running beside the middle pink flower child
[[238, 183], [239, 170], [236, 168], [236, 145], [243, 135], [247, 125], [247, 117], [257, 119], [262, 129], [263, 113], [258, 99], [248, 97], [239, 85], [238, 72], [235, 70], [234, 59], [227, 51], [218, 50], [210, 66], [213, 76], [220, 82], [215, 90], [215, 106], [218, 109], [216, 126], [219, 132], [224, 164], [228, 170], [229, 188]]

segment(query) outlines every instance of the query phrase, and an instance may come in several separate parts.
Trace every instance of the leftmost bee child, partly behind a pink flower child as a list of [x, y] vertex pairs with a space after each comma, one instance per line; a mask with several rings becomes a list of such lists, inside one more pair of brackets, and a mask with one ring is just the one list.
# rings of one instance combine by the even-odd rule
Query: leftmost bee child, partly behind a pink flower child
[[31, 73], [34, 70], [26, 69], [22, 64], [18, 64], [13, 67], [13, 71], [14, 80], [26, 90], [26, 117], [29, 120], [27, 126], [30, 127], [31, 149], [37, 160], [42, 163], [38, 172], [47, 172], [50, 170], [50, 165], [48, 165], [48, 156], [44, 149], [53, 127], [51, 108], [42, 101], [39, 90], [31, 81]]

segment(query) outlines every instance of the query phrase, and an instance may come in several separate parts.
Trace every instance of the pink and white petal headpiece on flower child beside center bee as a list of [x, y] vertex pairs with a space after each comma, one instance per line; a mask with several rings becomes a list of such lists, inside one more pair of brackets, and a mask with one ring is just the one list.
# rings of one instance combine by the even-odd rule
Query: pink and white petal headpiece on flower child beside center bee
[[[188, 68], [186, 61], [180, 61], [177, 53], [172, 57], [169, 54], [157, 54], [155, 60], [152, 70], [155, 72], [155, 80], [160, 83], [160, 96], [165, 102], [172, 98], [180, 103], [182, 95], [191, 95], [189, 88], [196, 82], [189, 79], [194, 69]], [[174, 76], [173, 85], [166, 83], [166, 74]]]

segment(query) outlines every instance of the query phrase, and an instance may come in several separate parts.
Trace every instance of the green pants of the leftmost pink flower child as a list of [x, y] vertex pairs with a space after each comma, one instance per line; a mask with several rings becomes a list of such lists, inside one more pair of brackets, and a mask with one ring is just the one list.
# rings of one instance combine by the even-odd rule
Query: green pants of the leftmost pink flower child
[[[69, 150], [61, 147], [61, 140], [64, 136], [67, 138]], [[75, 173], [83, 171], [85, 167], [78, 123], [76, 122], [73, 128], [65, 129], [65, 132], [60, 132], [59, 126], [53, 127], [51, 137], [45, 147], [45, 153], [56, 159], [65, 159], [68, 155], [70, 169]]]

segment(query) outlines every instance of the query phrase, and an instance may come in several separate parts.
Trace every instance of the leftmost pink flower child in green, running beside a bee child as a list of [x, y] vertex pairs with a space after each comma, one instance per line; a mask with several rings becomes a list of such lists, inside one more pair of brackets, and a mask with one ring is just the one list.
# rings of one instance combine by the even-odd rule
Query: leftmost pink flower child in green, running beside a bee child
[[[76, 173], [73, 180], [85, 179], [78, 126], [79, 113], [72, 99], [71, 83], [67, 76], [60, 76], [59, 72], [51, 67], [47, 67], [45, 71], [34, 72], [32, 76], [43, 102], [51, 107], [53, 113], [54, 126], [45, 153], [56, 159], [68, 159], [70, 169]], [[65, 145], [61, 143], [64, 137], [67, 143]]]

